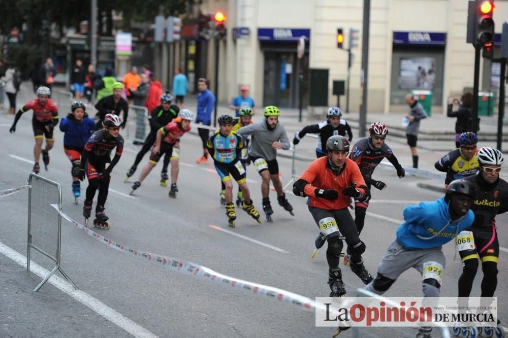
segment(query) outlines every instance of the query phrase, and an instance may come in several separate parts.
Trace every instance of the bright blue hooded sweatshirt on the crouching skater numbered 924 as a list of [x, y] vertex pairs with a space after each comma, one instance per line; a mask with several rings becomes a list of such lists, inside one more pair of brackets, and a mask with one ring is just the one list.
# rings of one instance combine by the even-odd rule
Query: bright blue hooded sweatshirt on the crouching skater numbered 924
[[421, 202], [416, 206], [406, 206], [403, 214], [405, 222], [397, 229], [397, 241], [408, 250], [438, 248], [453, 240], [474, 221], [471, 210], [452, 221], [448, 202], [444, 201], [444, 197], [431, 202]]

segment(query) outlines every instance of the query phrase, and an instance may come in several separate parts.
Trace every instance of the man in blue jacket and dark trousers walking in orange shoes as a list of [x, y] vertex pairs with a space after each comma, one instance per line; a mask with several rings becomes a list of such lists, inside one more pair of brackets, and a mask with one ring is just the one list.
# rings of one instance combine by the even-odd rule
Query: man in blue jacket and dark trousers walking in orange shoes
[[[215, 105], [215, 95], [208, 90], [208, 80], [200, 78], [198, 80], [198, 116], [196, 117], [196, 123], [210, 125], [212, 121], [212, 111]], [[198, 128], [199, 137], [203, 143], [203, 156], [198, 158], [197, 163], [208, 163], [208, 148], [206, 142], [209, 137], [209, 130], [205, 128]]]

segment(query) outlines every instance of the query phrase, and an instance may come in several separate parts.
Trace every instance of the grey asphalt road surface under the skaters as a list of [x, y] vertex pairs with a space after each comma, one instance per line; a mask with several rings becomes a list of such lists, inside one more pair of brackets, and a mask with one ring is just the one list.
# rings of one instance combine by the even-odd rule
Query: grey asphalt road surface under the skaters
[[[61, 113], [60, 113], [61, 114]], [[12, 116], [0, 115], [0, 189], [23, 185], [33, 161], [31, 113], [18, 123], [15, 134], [8, 133]], [[82, 222], [82, 200], [74, 204], [71, 189], [71, 165], [62, 146], [62, 133], [56, 134], [51, 150], [49, 171], [40, 173], [57, 181], [63, 189], [63, 211]], [[302, 143], [303, 154], [311, 154], [314, 142]], [[207, 266], [235, 278], [265, 284], [309, 298], [328, 296], [328, 266], [325, 250], [310, 259], [317, 228], [303, 198], [288, 191], [295, 208], [291, 216], [277, 205], [271, 192], [274, 223], [259, 225], [237, 209], [235, 229], [228, 228], [224, 207], [219, 205], [220, 182], [212, 164], [197, 165], [201, 143], [195, 134], [181, 141], [179, 193], [168, 197], [169, 187], [159, 185], [160, 165], [148, 176], [135, 195], [128, 196], [131, 184], [123, 182], [125, 172], [134, 160], [137, 147], [127, 145], [112, 173], [106, 214], [110, 230], [98, 230], [117, 243], [129, 247], [178, 257]], [[17, 157], [13, 157], [15, 155]], [[25, 159], [25, 160], [23, 160]], [[139, 175], [138, 172], [131, 183]], [[290, 179], [291, 160], [279, 157], [283, 183]], [[41, 161], [42, 163], [42, 161]], [[308, 163], [297, 161], [297, 173]], [[367, 269], [374, 275], [379, 260], [394, 239], [395, 229], [407, 204], [432, 200], [441, 195], [417, 187], [422, 179], [406, 177], [399, 180], [395, 171], [379, 167], [375, 177], [388, 184], [384, 191], [374, 190], [368, 209], [362, 239], [367, 245], [364, 255]], [[258, 210], [261, 209], [260, 177], [252, 166], [247, 168], [248, 184]], [[86, 182], [82, 183], [82, 192]], [[236, 187], [235, 187], [236, 193]], [[504, 231], [508, 217], [496, 218], [499, 242], [507, 246]], [[26, 255], [27, 190], [0, 199], [0, 243]], [[0, 254], [0, 336], [130, 336], [150, 333], [161, 337], [227, 336], [227, 337], [304, 337], [330, 336], [331, 328], [316, 328], [314, 313], [284, 305], [263, 297], [237, 292], [231, 287], [207, 283], [180, 275], [145, 261], [112, 250], [94, 240], [69, 222], [62, 223], [62, 268], [84, 293], [100, 300], [104, 308], [91, 310], [82, 302], [53, 285], [46, 284], [39, 292], [32, 290], [41, 278], [26, 272], [23, 266]], [[210, 227], [231, 230], [233, 234]], [[279, 249], [279, 250], [277, 250]], [[447, 267], [443, 276], [442, 296], [455, 296], [461, 263], [454, 244], [444, 247]], [[508, 312], [505, 302], [506, 251], [501, 251], [499, 283], [499, 317], [503, 322]], [[32, 259], [46, 269], [51, 262], [40, 254]], [[482, 274], [479, 272], [473, 296], [480, 295]], [[347, 295], [354, 295], [361, 281], [348, 267], [343, 268]], [[417, 271], [404, 273], [387, 296], [420, 296], [421, 277]], [[102, 309], [102, 310], [101, 310]], [[131, 323], [129, 333], [114, 324], [111, 313]], [[109, 317], [108, 317], [109, 316]], [[130, 320], [130, 321], [129, 321]], [[120, 320], [121, 322], [121, 320]], [[416, 329], [370, 329], [360, 336], [414, 336]], [[350, 331], [341, 337], [352, 336]], [[439, 334], [435, 334], [439, 336]]]

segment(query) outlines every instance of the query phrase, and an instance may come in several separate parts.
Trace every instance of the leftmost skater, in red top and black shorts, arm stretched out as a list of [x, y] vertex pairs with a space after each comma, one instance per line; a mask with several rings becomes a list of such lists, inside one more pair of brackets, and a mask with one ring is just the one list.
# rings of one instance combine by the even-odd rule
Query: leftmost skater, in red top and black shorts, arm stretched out
[[[42, 160], [44, 168], [48, 170], [49, 164], [49, 151], [53, 148], [53, 129], [58, 124], [58, 110], [55, 102], [49, 98], [51, 90], [48, 87], [39, 87], [37, 89], [37, 98], [29, 100], [21, 109], [16, 113], [12, 127], [9, 129], [10, 133], [16, 131], [16, 124], [18, 123], [21, 114], [28, 110], [33, 110], [32, 128], [34, 129], [35, 146], [34, 146], [34, 168], [32, 171], [39, 174], [41, 167], [39, 165], [39, 158], [42, 153]], [[42, 149], [43, 136], [46, 138], [46, 147]]]

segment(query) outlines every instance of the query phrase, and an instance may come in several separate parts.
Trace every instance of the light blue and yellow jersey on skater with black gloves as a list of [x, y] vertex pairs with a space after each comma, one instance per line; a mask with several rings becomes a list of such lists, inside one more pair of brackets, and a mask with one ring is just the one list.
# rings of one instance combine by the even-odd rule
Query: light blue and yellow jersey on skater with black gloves
[[206, 147], [215, 161], [232, 163], [240, 159], [244, 144], [236, 131], [231, 130], [228, 136], [223, 136], [219, 130], [215, 130], [208, 139]]

